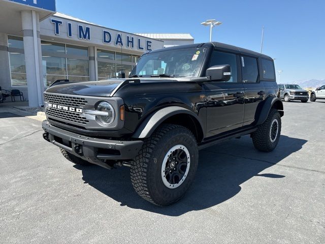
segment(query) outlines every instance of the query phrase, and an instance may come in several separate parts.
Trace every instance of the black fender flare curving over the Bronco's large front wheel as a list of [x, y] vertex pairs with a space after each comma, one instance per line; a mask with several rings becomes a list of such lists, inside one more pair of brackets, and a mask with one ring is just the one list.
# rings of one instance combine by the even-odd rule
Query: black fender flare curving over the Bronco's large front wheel
[[[197, 122], [200, 124], [201, 129], [204, 128], [198, 118], [198, 115], [186, 108], [179, 107], [179, 106], [170, 106], [159, 109], [148, 117], [146, 117], [138, 129], [133, 134], [132, 138], [148, 138], [151, 134], [157, 129], [161, 123], [163, 123], [169, 117], [176, 115], [176, 114], [188, 114], [193, 116]], [[202, 131], [203, 132], [203, 131]]]

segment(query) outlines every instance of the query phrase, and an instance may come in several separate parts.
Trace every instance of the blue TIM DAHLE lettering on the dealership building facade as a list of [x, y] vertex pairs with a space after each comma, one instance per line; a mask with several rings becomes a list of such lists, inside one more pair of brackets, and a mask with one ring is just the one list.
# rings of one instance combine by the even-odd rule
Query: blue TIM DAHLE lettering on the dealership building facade
[[[54, 24], [55, 35], [60, 35], [60, 27], [63, 24], [63, 21], [58, 19], [51, 19], [51, 23]], [[73, 31], [76, 26], [70, 22], [67, 22], [67, 36], [68, 38], [73, 37]], [[92, 31], [89, 26], [84, 26], [78, 24], [77, 26], [78, 38], [83, 40], [90, 41], [92, 38]], [[151, 51], [152, 41], [143, 40], [139, 37], [121, 33], [114, 33], [114, 35], [107, 29], [102, 31], [102, 40], [105, 44], [114, 44], [116, 46], [128, 47], [128, 48], [137, 48], [138, 50]]]

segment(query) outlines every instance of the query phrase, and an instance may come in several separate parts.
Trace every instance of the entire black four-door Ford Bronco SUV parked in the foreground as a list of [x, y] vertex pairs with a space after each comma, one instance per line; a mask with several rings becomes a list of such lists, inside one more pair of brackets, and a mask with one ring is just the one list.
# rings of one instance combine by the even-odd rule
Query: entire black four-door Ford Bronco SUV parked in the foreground
[[273, 59], [201, 43], [144, 53], [129, 78], [54, 82], [45, 140], [75, 164], [131, 167], [144, 199], [169, 205], [193, 182], [198, 150], [249, 134], [272, 151], [281, 132]]

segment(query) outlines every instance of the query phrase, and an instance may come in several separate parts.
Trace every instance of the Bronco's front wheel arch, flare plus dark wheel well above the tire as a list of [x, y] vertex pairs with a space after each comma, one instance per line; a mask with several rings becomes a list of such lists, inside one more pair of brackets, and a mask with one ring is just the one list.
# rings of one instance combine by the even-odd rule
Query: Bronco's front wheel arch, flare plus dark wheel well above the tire
[[150, 114], [138, 127], [132, 138], [148, 138], [161, 124], [175, 124], [189, 129], [198, 142], [204, 138], [203, 126], [194, 112], [179, 106], [162, 108]]

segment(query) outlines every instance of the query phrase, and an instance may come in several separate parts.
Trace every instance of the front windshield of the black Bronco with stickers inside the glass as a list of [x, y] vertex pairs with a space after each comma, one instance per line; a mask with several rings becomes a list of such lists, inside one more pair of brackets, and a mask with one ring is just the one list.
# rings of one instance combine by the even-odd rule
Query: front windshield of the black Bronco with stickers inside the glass
[[186, 48], [144, 54], [129, 76], [199, 77], [206, 48]]

